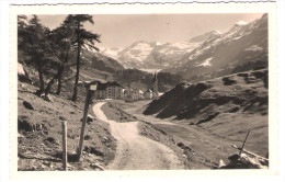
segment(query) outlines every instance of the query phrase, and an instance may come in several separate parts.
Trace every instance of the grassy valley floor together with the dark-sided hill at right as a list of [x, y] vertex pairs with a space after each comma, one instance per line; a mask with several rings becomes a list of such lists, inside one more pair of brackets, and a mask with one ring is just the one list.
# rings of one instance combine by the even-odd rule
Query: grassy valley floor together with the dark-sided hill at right
[[[151, 122], [153, 127], [172, 136], [176, 144], [190, 147], [201, 159], [198, 162], [191, 161], [193, 156], [190, 156], [193, 168], [208, 168], [220, 159], [227, 162], [229, 155], [238, 152], [231, 146], [241, 146], [249, 129], [246, 149], [265, 157], [269, 152], [266, 70], [227, 78], [236, 82], [225, 84], [223, 78], [208, 80], [203, 84], [209, 87], [203, 91], [197, 89], [195, 94], [195, 89], [189, 88], [196, 84], [184, 83], [184, 88], [175, 94], [170, 91], [164, 101], [119, 102], [116, 105], [139, 120]], [[191, 90], [192, 94], [186, 92]], [[190, 98], [195, 101], [189, 103]], [[197, 110], [202, 103], [203, 107]], [[146, 109], [152, 113], [142, 114]], [[219, 114], [213, 117], [217, 112]]]

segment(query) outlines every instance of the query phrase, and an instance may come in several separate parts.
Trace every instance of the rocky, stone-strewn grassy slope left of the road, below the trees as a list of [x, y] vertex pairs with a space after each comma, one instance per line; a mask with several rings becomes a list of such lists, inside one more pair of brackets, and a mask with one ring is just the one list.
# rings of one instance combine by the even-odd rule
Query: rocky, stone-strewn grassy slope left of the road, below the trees
[[[45, 127], [34, 132], [19, 129], [18, 169], [61, 170], [61, 120], [68, 122], [68, 152], [72, 156], [79, 143], [83, 102], [75, 103], [65, 96], [56, 95], [52, 96], [54, 102], [47, 102], [33, 93], [36, 89], [32, 84], [19, 82], [19, 117], [25, 116], [30, 124], [42, 124]], [[23, 101], [31, 103], [34, 110], [24, 107]], [[89, 113], [92, 114], [91, 110]], [[88, 124], [87, 135], [91, 139], [84, 140], [84, 147], [90, 150], [83, 152], [81, 162], [70, 162], [69, 170], [96, 170], [114, 158], [115, 139], [111, 136], [106, 123], [95, 120]], [[55, 143], [45, 140], [47, 138], [54, 138]]]

